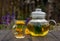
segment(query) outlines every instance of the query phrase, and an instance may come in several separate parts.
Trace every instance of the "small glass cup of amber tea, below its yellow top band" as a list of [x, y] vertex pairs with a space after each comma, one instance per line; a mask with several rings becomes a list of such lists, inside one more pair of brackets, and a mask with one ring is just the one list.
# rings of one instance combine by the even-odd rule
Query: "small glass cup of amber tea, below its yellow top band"
[[24, 38], [24, 25], [16, 24], [13, 26], [13, 33], [16, 38]]

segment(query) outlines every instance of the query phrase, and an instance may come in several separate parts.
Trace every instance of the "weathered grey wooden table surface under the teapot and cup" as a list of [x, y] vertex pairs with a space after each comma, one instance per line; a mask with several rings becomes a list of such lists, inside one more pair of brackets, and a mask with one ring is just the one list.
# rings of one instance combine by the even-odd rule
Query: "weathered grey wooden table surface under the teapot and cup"
[[0, 41], [60, 41], [60, 27], [50, 31], [45, 37], [27, 36], [24, 39], [16, 39], [12, 30], [0, 30]]

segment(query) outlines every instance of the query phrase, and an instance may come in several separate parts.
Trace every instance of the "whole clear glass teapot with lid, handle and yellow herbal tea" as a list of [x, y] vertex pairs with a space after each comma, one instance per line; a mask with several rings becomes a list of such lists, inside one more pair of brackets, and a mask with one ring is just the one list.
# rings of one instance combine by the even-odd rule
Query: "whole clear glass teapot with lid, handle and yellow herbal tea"
[[31, 13], [32, 19], [28, 22], [27, 28], [32, 36], [45, 36], [56, 25], [54, 20], [47, 21], [45, 16], [46, 13], [39, 8]]

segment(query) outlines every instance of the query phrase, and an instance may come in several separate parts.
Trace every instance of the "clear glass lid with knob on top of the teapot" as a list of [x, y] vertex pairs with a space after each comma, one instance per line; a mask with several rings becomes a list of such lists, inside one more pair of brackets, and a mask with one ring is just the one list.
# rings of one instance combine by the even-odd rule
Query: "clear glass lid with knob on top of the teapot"
[[36, 8], [35, 9], [35, 11], [33, 11], [32, 13], [31, 13], [31, 17], [32, 18], [45, 18], [45, 16], [46, 16], [46, 13], [45, 12], [43, 12], [41, 9], [39, 9], [39, 8]]

